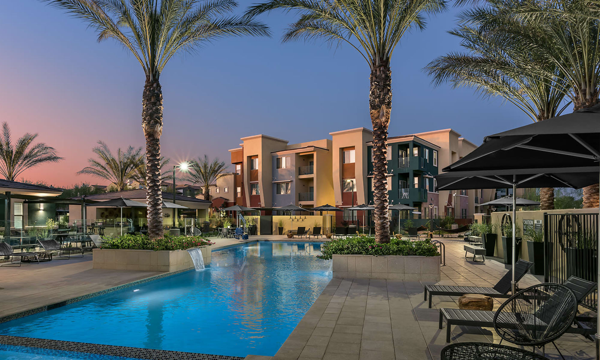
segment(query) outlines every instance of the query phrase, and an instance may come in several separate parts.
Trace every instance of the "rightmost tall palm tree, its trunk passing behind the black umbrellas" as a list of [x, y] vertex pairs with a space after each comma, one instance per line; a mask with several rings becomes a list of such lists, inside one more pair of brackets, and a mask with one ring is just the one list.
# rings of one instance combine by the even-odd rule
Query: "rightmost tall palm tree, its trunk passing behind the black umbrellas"
[[[487, 0], [470, 16], [481, 23], [482, 31], [495, 30], [499, 46], [520, 43], [536, 58], [555, 65], [571, 89], [567, 97], [578, 110], [600, 103], [600, 20], [598, 6], [589, 5], [589, 0]], [[538, 31], [528, 31], [532, 27]], [[556, 76], [538, 70], [548, 80]], [[584, 208], [598, 207], [598, 200], [598, 184], [584, 188]]]

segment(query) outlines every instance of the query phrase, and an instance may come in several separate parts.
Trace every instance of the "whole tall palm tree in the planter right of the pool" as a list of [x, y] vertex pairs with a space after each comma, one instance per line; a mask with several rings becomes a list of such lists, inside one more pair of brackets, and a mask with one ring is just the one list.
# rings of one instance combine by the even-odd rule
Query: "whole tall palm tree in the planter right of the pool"
[[247, 16], [275, 9], [296, 10], [299, 19], [290, 25], [283, 41], [321, 38], [346, 43], [369, 65], [369, 112], [373, 125], [373, 199], [375, 237], [389, 242], [388, 125], [392, 110], [391, 58], [406, 31], [424, 29], [424, 14], [446, 8], [445, 0], [271, 0], [250, 7]]

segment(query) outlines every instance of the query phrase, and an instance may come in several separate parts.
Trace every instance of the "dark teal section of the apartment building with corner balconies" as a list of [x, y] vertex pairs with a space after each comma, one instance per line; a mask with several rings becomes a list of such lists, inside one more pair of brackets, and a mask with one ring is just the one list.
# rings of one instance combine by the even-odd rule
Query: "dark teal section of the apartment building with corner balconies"
[[[368, 203], [373, 203], [373, 145], [367, 144]], [[388, 138], [388, 196], [390, 204], [401, 203], [424, 210], [428, 193], [434, 191], [438, 173], [439, 146], [417, 136]], [[436, 196], [437, 202], [437, 196]], [[421, 207], [423, 205], [423, 207]], [[437, 203], [436, 203], [437, 205]]]

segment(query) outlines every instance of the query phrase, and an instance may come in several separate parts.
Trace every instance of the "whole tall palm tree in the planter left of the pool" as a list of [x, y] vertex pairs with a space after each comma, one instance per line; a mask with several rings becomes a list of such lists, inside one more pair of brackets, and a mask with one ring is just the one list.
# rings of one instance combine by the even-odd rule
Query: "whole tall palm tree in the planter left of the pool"
[[269, 35], [262, 23], [247, 17], [225, 17], [233, 0], [41, 0], [78, 17], [98, 32], [98, 41], [112, 38], [130, 50], [145, 74], [142, 130], [148, 167], [148, 235], [163, 237], [160, 178], [160, 136], [163, 92], [160, 75], [176, 53], [198, 49], [218, 38]]

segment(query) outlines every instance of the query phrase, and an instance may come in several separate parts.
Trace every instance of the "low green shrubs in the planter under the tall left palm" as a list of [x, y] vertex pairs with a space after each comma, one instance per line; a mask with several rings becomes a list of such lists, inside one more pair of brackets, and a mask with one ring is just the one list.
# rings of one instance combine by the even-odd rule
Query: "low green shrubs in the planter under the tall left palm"
[[170, 236], [151, 240], [147, 235], [122, 235], [107, 238], [102, 244], [105, 249], [130, 249], [130, 250], [187, 250], [194, 247], [205, 247], [214, 242], [201, 236]]

